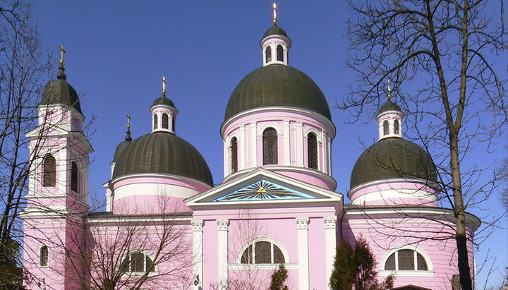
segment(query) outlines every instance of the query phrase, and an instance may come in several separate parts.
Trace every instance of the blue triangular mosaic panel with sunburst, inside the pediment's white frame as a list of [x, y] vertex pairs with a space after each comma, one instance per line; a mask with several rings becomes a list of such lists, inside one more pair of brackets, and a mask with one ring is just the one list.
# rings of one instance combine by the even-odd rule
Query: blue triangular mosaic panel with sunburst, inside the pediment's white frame
[[260, 180], [244, 188], [238, 189], [213, 201], [248, 201], [248, 200], [291, 200], [315, 198], [312, 195], [293, 191], [284, 186]]

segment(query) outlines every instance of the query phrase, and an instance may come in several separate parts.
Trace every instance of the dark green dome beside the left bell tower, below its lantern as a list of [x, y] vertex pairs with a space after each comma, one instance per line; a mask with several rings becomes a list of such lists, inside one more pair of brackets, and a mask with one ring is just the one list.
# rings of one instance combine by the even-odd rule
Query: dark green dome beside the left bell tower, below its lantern
[[212, 173], [200, 152], [167, 132], [143, 135], [126, 146], [116, 161], [113, 179], [143, 173], [185, 176], [213, 186]]

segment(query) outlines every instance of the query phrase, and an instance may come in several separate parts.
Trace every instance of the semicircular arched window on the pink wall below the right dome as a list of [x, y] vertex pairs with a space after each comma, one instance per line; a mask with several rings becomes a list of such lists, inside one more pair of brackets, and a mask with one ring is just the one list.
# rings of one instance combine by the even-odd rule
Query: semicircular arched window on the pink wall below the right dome
[[427, 271], [427, 262], [421, 253], [416, 250], [397, 250], [389, 255], [385, 262], [388, 271]]

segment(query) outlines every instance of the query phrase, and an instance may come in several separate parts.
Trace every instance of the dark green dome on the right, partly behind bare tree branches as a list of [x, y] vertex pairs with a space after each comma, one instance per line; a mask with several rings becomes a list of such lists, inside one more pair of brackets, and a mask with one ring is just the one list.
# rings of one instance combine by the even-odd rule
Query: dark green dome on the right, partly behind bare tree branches
[[386, 138], [358, 157], [350, 186], [392, 178], [437, 181], [436, 172], [432, 157], [422, 147], [403, 138]]

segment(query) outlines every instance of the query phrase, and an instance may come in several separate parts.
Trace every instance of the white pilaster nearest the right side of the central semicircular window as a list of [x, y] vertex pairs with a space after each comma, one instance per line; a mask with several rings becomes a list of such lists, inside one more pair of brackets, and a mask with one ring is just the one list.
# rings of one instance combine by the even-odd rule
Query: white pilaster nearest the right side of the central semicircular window
[[310, 289], [308, 259], [308, 217], [296, 217], [298, 231], [298, 289]]

